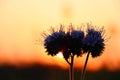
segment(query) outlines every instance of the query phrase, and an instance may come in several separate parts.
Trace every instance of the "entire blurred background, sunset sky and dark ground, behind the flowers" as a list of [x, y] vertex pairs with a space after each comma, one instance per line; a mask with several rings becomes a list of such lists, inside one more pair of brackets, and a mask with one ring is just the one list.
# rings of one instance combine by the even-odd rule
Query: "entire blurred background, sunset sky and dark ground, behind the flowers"
[[[69, 80], [69, 66], [43, 47], [43, 31], [59, 24], [104, 26], [104, 53], [89, 59], [86, 80], [120, 80], [120, 0], [0, 0], [0, 80]], [[80, 80], [86, 55], [75, 58]]]

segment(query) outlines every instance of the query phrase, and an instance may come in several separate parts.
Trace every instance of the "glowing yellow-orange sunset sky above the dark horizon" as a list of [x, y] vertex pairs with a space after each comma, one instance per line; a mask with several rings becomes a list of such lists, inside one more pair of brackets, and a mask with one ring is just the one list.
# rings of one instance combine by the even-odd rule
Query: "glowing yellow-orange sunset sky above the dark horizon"
[[[106, 49], [90, 58], [88, 69], [120, 69], [120, 0], [0, 0], [0, 65], [41, 63], [68, 67], [62, 58], [45, 53], [41, 33], [51, 26], [92, 22], [105, 26]], [[75, 59], [82, 67], [85, 56]]]

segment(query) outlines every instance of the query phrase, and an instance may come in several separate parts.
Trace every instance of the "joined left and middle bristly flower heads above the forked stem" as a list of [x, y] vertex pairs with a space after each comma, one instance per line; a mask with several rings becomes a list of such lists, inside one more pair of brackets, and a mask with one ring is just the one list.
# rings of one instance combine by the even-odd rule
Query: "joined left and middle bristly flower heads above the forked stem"
[[56, 55], [62, 52], [65, 59], [71, 55], [80, 56], [82, 54], [82, 40], [84, 39], [84, 32], [75, 30], [71, 26], [67, 31], [60, 27], [59, 30], [52, 28], [52, 33], [47, 35], [44, 40], [44, 47], [49, 55]]

